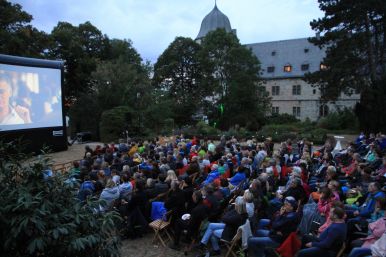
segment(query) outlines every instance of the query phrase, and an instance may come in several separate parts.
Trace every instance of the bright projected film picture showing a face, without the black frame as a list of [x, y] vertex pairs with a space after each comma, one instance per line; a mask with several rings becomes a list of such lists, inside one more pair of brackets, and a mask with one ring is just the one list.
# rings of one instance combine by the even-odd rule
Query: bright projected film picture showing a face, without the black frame
[[0, 130], [62, 126], [61, 71], [0, 64]]

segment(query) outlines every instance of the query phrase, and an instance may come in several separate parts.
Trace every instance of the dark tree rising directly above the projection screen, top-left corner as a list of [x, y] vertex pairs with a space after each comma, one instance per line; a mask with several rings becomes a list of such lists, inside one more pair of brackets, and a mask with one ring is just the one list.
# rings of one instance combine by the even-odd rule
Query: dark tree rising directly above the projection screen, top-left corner
[[48, 35], [30, 24], [32, 15], [6, 0], [0, 0], [0, 13], [0, 53], [42, 58]]

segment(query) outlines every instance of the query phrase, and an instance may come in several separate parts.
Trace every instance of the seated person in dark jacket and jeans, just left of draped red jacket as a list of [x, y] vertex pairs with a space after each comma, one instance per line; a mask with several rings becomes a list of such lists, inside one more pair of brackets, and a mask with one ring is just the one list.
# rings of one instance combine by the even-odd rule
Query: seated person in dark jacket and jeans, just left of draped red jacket
[[296, 231], [299, 221], [295, 212], [296, 208], [297, 202], [293, 197], [285, 199], [279, 216], [272, 222], [271, 230], [259, 229], [256, 232], [256, 237], [248, 239], [248, 256], [264, 257], [266, 247], [276, 248], [280, 246], [291, 232]]

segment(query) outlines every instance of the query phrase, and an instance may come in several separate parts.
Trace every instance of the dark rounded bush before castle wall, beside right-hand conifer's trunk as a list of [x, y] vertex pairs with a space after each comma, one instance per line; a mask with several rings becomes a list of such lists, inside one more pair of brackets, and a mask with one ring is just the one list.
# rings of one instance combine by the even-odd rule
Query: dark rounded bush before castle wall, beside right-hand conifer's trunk
[[352, 110], [345, 108], [321, 118], [317, 126], [329, 130], [357, 130], [358, 118]]

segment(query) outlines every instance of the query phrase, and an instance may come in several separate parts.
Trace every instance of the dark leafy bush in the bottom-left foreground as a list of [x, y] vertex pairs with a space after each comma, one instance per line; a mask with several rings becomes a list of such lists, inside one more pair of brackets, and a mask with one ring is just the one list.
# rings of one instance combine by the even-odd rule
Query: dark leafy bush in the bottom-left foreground
[[77, 185], [46, 177], [49, 159], [27, 161], [18, 146], [0, 142], [1, 256], [119, 256], [116, 212], [82, 205]]

